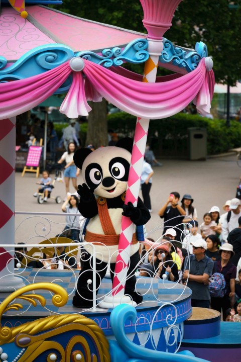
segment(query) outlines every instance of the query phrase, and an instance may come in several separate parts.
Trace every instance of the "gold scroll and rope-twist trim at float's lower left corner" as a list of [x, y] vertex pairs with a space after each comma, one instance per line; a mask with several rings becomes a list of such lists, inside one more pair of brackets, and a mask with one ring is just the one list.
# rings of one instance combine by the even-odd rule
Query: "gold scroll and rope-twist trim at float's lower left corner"
[[[36, 305], [36, 300], [39, 300], [40, 303], [44, 306], [46, 301], [45, 298], [41, 295], [22, 295], [23, 293], [36, 289], [49, 290], [55, 293], [52, 298], [52, 302], [55, 306], [59, 307], [67, 302], [68, 294], [62, 287], [52, 283], [36, 283], [21, 288], [20, 290], [14, 292], [8, 298], [6, 298], [4, 302], [0, 305], [0, 317], [2, 317], [4, 312], [10, 310], [11, 308], [19, 309], [23, 307], [21, 304], [17, 303], [9, 305], [9, 303], [16, 298], [28, 300], [33, 305]], [[73, 336], [68, 341], [65, 349], [58, 342], [49, 340], [46, 341], [46, 339], [49, 339], [53, 336], [73, 330], [76, 331], [77, 335]], [[91, 338], [95, 345], [97, 356], [89, 350], [87, 340], [83, 336], [81, 336], [80, 333], [78, 334], [78, 331], [84, 332]], [[15, 341], [15, 343], [21, 348], [26, 349], [24, 354], [18, 359], [18, 362], [32, 362], [35, 360], [35, 358], [37, 358], [38, 355], [50, 349], [51, 351], [53, 351], [53, 349], [56, 350], [56, 353], [60, 355], [61, 358], [59, 359], [58, 357], [59, 362], [77, 362], [77, 360], [79, 360], [79, 356], [81, 356], [81, 362], [87, 362], [90, 360], [96, 362], [110, 361], [109, 344], [102, 329], [99, 328], [93, 320], [78, 314], [62, 314], [49, 316], [37, 319], [32, 322], [24, 323], [17, 327], [1, 328], [0, 345], [5, 343], [11, 343], [13, 341]], [[74, 345], [76, 343], [82, 346], [84, 354], [78, 350], [73, 351]], [[50, 361], [50, 355], [56, 353], [51, 352], [48, 355], [47, 360]], [[89, 359], [89, 356], [91, 356], [92, 359]]]

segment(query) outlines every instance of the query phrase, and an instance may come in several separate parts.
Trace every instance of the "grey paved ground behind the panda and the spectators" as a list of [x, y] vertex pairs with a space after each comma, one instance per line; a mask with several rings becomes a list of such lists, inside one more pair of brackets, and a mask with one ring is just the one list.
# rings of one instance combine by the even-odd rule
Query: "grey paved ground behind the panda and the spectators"
[[[153, 187], [151, 189], [152, 217], [146, 225], [149, 235], [155, 240], [162, 233], [162, 220], [158, 211], [166, 202], [170, 192], [178, 191], [181, 194], [191, 194], [197, 209], [198, 221], [202, 222], [205, 212], [211, 206], [218, 206], [222, 211], [222, 205], [228, 199], [235, 197], [235, 189], [239, 183], [241, 169], [237, 166], [235, 155], [224, 155], [210, 158], [206, 161], [188, 160], [160, 160], [162, 167], [154, 167]], [[54, 177], [54, 174], [51, 174]], [[32, 173], [16, 173], [16, 211], [34, 212], [60, 212], [61, 204], [50, 200], [47, 204], [40, 205], [32, 195], [36, 191], [36, 177]], [[81, 183], [81, 176], [78, 183]], [[65, 197], [65, 186], [61, 183], [55, 184], [53, 196]], [[73, 188], [71, 189], [73, 191]], [[51, 222], [43, 217], [34, 217], [26, 220], [26, 215], [16, 215], [16, 242], [28, 240], [38, 242], [44, 240], [44, 235], [55, 236], [63, 229], [65, 216], [50, 216]], [[153, 229], [156, 232], [151, 232]], [[44, 230], [46, 229], [46, 230]], [[41, 235], [41, 236], [38, 236]]]

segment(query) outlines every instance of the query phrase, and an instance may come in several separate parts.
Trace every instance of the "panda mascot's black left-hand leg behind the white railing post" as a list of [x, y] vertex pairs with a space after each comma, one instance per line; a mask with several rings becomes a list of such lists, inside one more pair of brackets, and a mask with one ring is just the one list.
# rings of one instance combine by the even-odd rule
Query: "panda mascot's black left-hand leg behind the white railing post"
[[[107, 263], [96, 259], [96, 295], [98, 293], [101, 280], [106, 274]], [[73, 297], [73, 306], [77, 308], [90, 308], [93, 306], [93, 289], [88, 280], [93, 279], [93, 268], [91, 255], [86, 253], [83, 268], [80, 270], [77, 288]]]

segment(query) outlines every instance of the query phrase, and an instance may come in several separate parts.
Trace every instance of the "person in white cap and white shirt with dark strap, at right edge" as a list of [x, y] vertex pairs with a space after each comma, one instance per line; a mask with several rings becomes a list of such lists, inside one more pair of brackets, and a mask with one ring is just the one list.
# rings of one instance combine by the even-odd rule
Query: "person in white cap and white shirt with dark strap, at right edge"
[[230, 211], [223, 217], [222, 222], [222, 239], [227, 242], [227, 236], [230, 231], [238, 227], [238, 218], [241, 216], [241, 203], [240, 200], [234, 198], [230, 202]]

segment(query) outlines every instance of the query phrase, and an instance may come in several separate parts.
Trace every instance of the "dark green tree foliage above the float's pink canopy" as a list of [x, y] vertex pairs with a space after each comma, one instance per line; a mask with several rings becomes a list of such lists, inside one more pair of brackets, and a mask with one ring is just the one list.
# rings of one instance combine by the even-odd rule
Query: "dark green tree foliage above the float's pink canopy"
[[[100, 23], [146, 32], [139, 0], [63, 0], [63, 5], [56, 9]], [[241, 0], [184, 0], [174, 14], [173, 26], [164, 36], [188, 48], [203, 41], [213, 57], [216, 81], [234, 85], [241, 79], [240, 19]]]

